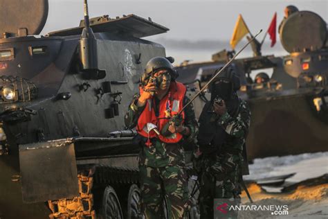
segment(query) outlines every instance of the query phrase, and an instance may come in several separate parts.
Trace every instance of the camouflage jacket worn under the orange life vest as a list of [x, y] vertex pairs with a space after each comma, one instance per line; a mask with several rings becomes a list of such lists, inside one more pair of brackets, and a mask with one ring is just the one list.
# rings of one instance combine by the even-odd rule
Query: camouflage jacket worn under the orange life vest
[[[129, 109], [125, 114], [125, 125], [127, 128], [135, 128], [138, 123], [138, 118], [145, 107], [138, 107], [136, 105], [140, 94], [135, 94], [133, 100], [129, 105]], [[189, 102], [189, 98], [185, 96], [183, 105]], [[158, 106], [155, 106], [158, 107]], [[190, 129], [190, 135], [185, 137], [183, 141], [194, 141], [197, 136], [197, 121], [194, 117], [194, 107], [190, 104], [185, 108], [184, 125]], [[139, 136], [139, 141], [142, 146], [139, 159], [140, 164], [152, 167], [176, 166], [184, 165], [184, 150], [179, 143], [163, 143], [158, 139], [152, 139], [152, 146], [149, 148], [144, 146], [147, 139]]]

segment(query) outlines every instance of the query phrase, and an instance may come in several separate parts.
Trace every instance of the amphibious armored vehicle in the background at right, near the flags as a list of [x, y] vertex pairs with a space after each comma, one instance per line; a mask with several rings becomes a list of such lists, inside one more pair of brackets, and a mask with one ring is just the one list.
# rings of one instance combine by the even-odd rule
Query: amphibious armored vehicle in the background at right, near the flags
[[[327, 23], [314, 12], [295, 12], [284, 20], [280, 39], [289, 55], [233, 61], [244, 85], [239, 95], [252, 112], [246, 142], [249, 159], [328, 149]], [[232, 56], [224, 50], [212, 55], [210, 62], [185, 62], [177, 67], [178, 80], [198, 89]], [[273, 72], [271, 78], [268, 71]], [[253, 82], [254, 72], [269, 80]], [[195, 103], [197, 114], [202, 105]]]

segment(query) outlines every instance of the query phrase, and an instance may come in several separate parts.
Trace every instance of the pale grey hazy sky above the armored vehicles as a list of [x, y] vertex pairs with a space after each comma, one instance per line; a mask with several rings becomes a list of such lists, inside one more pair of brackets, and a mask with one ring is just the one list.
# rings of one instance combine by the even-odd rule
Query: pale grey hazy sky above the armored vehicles
[[[328, 21], [327, 0], [89, 0], [88, 3], [90, 17], [135, 14], [144, 18], [151, 17], [152, 21], [170, 28], [167, 33], [145, 37], [145, 40], [163, 44], [167, 55], [175, 56], [179, 62], [185, 59], [209, 60], [212, 53], [230, 49], [229, 40], [239, 14], [244, 17], [253, 35], [260, 29], [267, 30], [275, 12], [279, 25], [284, 16], [284, 8], [288, 5], [316, 12]], [[80, 19], [83, 19], [83, 0], [49, 0], [48, 20], [42, 34], [78, 26]], [[263, 36], [264, 33], [259, 35], [259, 40]], [[267, 37], [264, 51], [279, 55], [286, 53], [279, 39], [272, 49], [269, 43]], [[236, 49], [242, 46], [240, 43]], [[250, 49], [245, 52], [251, 55]]]

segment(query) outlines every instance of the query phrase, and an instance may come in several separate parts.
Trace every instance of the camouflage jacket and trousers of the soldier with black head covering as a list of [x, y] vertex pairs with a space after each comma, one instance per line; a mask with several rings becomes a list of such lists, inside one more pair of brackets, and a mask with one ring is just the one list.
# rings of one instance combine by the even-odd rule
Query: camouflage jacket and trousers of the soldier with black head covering
[[[217, 123], [228, 134], [219, 150], [202, 155], [198, 160], [201, 171], [201, 191], [199, 203], [201, 218], [213, 217], [213, 200], [215, 198], [230, 200], [238, 204], [242, 177], [242, 150], [250, 124], [250, 110], [244, 100], [239, 101], [239, 111], [235, 118], [228, 112], [222, 116], [212, 114], [211, 121]], [[222, 203], [215, 204], [224, 204]], [[224, 218], [237, 218], [234, 213], [222, 215]]]

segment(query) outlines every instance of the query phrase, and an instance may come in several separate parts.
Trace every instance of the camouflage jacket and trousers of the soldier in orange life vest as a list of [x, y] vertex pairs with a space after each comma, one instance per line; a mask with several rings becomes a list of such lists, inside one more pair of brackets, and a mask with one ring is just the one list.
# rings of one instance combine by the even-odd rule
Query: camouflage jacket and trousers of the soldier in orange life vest
[[[134, 96], [127, 114], [125, 125], [134, 128], [144, 107], [137, 107], [139, 94]], [[184, 98], [183, 104], [189, 99]], [[158, 107], [158, 106], [156, 106]], [[193, 141], [197, 135], [197, 122], [194, 109], [189, 105], [185, 109], [184, 125], [190, 128], [187, 141]], [[144, 137], [138, 136], [142, 149], [139, 154], [139, 171], [142, 209], [146, 218], [165, 218], [163, 216], [163, 193], [167, 201], [170, 218], [182, 218], [188, 200], [188, 182], [185, 172], [185, 157], [181, 143], [163, 143], [151, 139], [152, 146], [145, 146]]]

